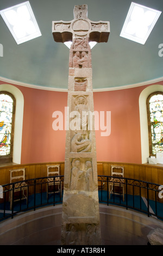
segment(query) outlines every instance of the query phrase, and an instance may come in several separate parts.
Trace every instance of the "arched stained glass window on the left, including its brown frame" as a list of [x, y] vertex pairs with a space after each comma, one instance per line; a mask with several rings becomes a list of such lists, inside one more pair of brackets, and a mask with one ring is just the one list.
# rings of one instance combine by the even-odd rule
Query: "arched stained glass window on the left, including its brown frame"
[[0, 93], [0, 162], [12, 161], [14, 139], [15, 98]]

